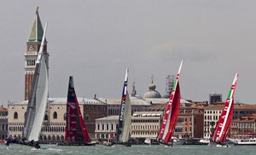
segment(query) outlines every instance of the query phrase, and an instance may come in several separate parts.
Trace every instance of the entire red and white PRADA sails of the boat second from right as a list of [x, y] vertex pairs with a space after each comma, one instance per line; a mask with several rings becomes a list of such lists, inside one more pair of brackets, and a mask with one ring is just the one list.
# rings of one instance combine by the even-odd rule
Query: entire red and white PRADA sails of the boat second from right
[[174, 82], [172, 93], [170, 100], [166, 106], [166, 114], [163, 119], [163, 123], [160, 128], [160, 133], [157, 137], [158, 141], [162, 141], [163, 143], [168, 143], [172, 140], [172, 134], [175, 129], [175, 125], [177, 122], [177, 115], [179, 112], [179, 105], [180, 105], [180, 89], [179, 89], [179, 74], [183, 65], [183, 61], [179, 66], [177, 77]]

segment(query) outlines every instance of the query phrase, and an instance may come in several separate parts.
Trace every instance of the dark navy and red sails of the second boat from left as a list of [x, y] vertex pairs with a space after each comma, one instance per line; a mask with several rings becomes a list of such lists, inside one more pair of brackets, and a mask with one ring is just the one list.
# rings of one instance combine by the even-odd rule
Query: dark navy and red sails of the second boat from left
[[79, 102], [74, 90], [73, 77], [69, 77], [67, 91], [67, 119], [65, 140], [67, 142], [89, 142], [90, 137], [85, 128], [79, 108]]

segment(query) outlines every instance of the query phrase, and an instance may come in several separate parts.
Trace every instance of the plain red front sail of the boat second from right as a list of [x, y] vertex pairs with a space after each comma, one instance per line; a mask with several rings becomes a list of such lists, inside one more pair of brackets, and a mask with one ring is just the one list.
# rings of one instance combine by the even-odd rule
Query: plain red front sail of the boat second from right
[[176, 123], [177, 123], [177, 115], [179, 112], [179, 105], [180, 105], [180, 90], [179, 90], [179, 83], [177, 82], [176, 93], [175, 93], [175, 95], [173, 97], [173, 101], [172, 101], [172, 111], [170, 113], [171, 120], [169, 123], [169, 129], [168, 129], [165, 139], [163, 140], [165, 143], [172, 140], [172, 135], [175, 130]]

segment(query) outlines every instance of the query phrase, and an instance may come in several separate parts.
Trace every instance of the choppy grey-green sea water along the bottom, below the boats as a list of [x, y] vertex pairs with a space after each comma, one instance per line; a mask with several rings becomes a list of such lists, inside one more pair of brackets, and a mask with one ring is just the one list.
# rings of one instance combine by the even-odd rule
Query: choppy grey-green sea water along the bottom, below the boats
[[37, 150], [30, 146], [20, 146], [17, 144], [11, 144], [9, 149], [5, 145], [0, 145], [0, 154], [4, 155], [25, 155], [25, 154], [124, 154], [124, 155], [148, 155], [148, 154], [180, 154], [180, 155], [192, 155], [192, 154], [237, 154], [248, 155], [256, 154], [256, 146], [230, 146], [228, 148], [213, 147], [213, 146], [184, 146], [176, 145], [173, 147], [160, 146], [140, 146], [135, 145], [131, 147], [125, 146], [55, 146], [55, 145], [41, 145], [41, 149]]

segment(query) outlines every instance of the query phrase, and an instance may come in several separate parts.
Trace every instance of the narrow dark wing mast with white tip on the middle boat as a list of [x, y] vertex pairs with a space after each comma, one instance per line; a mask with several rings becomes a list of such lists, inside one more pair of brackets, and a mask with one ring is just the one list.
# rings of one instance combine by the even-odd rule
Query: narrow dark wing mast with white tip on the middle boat
[[124, 82], [120, 110], [119, 110], [118, 129], [116, 132], [116, 141], [118, 142], [120, 141], [120, 135], [123, 134], [123, 128], [124, 128], [124, 122], [125, 122], [125, 101], [126, 101], [126, 94], [127, 94], [128, 72], [129, 72], [129, 69], [127, 68], [125, 72], [125, 82]]

